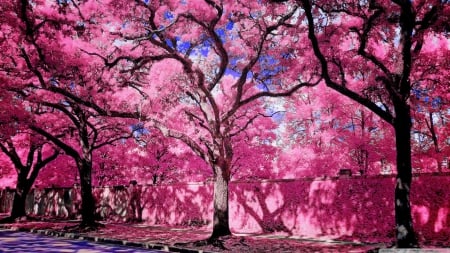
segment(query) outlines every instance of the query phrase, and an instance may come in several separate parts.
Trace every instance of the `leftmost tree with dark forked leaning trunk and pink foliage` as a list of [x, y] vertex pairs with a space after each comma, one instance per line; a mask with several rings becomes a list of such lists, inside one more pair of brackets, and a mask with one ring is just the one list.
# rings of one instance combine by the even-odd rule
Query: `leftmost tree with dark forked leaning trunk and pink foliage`
[[28, 129], [31, 120], [38, 120], [33, 117], [33, 108], [20, 96], [15, 97], [5, 83], [0, 89], [3, 89], [0, 96], [0, 150], [10, 159], [17, 173], [11, 214], [3, 220], [9, 222], [26, 216], [25, 200], [36, 177], [58, 157], [59, 151]]

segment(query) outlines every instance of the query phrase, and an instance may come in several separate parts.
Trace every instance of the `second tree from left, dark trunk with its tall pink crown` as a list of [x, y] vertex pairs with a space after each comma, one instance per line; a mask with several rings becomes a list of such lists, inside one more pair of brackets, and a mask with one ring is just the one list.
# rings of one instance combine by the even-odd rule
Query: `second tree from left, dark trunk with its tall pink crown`
[[47, 119], [31, 121], [30, 129], [74, 159], [83, 198], [81, 226], [93, 226], [92, 154], [132, 136], [129, 126], [134, 120], [119, 121], [110, 116], [138, 118], [138, 115], [134, 108], [127, 111], [129, 108], [122, 107], [121, 99], [127, 99], [127, 91], [112, 92], [111, 85], [99, 81], [100, 62], [74, 47], [83, 43], [82, 24], [78, 22], [82, 13], [75, 2], [69, 5], [19, 1], [4, 3], [2, 9], [0, 42], [9, 53], [2, 73], [8, 90], [23, 96], [38, 108], [40, 117]]

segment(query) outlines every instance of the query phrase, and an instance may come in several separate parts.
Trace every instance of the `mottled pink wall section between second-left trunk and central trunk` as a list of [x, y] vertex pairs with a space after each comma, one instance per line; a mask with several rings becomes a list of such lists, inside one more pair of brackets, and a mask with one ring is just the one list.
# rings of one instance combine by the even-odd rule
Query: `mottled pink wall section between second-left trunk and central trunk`
[[[211, 223], [212, 186], [174, 184], [138, 186], [139, 200], [124, 186], [96, 188], [99, 219], [147, 224], [203, 226]], [[137, 206], [133, 206], [137, 205]]]

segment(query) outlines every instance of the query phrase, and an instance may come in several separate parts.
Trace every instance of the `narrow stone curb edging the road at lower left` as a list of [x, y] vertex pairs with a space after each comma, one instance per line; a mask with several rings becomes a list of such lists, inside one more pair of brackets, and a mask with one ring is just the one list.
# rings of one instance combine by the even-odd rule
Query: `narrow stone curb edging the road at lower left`
[[113, 238], [81, 235], [79, 233], [61, 232], [61, 231], [51, 230], [51, 229], [14, 228], [12, 226], [5, 226], [5, 225], [0, 225], [0, 228], [7, 229], [10, 231], [16, 231], [16, 232], [28, 232], [28, 233], [34, 233], [34, 234], [39, 234], [39, 235], [45, 235], [45, 236], [61, 237], [61, 238], [65, 238], [65, 239], [77, 239], [77, 240], [85, 240], [85, 241], [96, 242], [96, 243], [160, 250], [163, 252], [214, 253], [213, 251], [183, 248], [183, 247], [171, 246], [171, 245], [160, 244], [160, 243], [133, 242], [133, 241], [127, 241], [127, 240], [113, 239]]

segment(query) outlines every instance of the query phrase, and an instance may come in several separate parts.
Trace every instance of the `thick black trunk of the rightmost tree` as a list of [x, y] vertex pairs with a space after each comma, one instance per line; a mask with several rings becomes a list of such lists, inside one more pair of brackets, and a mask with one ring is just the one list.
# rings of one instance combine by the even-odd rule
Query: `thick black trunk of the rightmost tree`
[[417, 238], [413, 229], [411, 205], [409, 200], [412, 165], [411, 165], [411, 115], [406, 104], [395, 106], [394, 121], [397, 148], [397, 177], [395, 185], [395, 225], [397, 247], [417, 247]]

